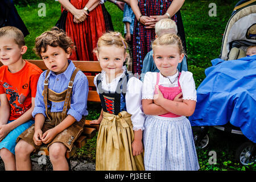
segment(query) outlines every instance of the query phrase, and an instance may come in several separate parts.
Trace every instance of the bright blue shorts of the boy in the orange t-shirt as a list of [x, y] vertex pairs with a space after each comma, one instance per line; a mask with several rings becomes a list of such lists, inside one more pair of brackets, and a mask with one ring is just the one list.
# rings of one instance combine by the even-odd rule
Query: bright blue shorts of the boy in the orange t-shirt
[[[7, 123], [13, 121], [8, 121]], [[6, 137], [0, 142], [0, 149], [7, 148], [11, 153], [15, 155], [16, 138], [19, 137], [19, 135], [22, 134], [23, 131], [27, 130], [28, 127], [30, 127], [34, 123], [35, 122], [33, 120], [29, 120], [26, 123], [23, 123], [22, 125], [19, 125], [15, 129], [11, 130], [10, 133], [7, 134]]]

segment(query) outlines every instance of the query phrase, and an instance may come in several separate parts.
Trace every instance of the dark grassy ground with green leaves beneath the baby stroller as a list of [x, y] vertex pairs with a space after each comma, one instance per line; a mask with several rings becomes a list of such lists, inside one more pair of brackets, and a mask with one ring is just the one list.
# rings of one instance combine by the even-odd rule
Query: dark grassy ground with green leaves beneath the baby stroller
[[[256, 164], [243, 166], [235, 159], [237, 148], [246, 141], [244, 136], [224, 133], [213, 127], [209, 129], [208, 135], [208, 146], [196, 150], [200, 171], [253, 171], [256, 169]], [[209, 164], [210, 151], [216, 152], [216, 164]]]

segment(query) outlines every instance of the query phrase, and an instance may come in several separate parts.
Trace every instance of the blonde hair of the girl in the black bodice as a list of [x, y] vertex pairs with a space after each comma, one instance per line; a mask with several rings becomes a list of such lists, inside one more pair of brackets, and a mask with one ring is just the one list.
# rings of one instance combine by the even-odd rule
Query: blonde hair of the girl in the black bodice
[[97, 42], [97, 47], [94, 48], [93, 52], [99, 52], [101, 46], [118, 46], [127, 50], [127, 43], [120, 32], [106, 32], [103, 34]]

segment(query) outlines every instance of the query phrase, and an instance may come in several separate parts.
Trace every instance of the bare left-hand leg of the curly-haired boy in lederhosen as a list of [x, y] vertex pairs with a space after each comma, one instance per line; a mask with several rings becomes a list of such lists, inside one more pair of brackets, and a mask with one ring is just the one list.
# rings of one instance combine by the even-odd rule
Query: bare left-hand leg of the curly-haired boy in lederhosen
[[18, 171], [31, 171], [32, 164], [30, 154], [34, 151], [34, 147], [26, 141], [20, 139], [15, 147], [16, 169]]

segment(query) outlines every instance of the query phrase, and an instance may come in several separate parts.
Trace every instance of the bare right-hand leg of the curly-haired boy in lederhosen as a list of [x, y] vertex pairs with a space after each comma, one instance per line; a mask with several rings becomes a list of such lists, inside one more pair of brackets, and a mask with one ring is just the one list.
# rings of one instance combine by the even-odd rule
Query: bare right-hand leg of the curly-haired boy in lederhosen
[[54, 171], [68, 171], [68, 161], [65, 157], [67, 147], [63, 143], [56, 142], [49, 146], [49, 158]]

